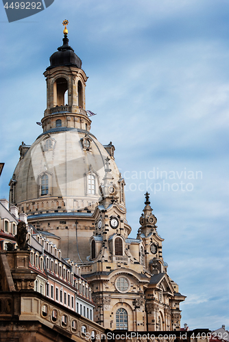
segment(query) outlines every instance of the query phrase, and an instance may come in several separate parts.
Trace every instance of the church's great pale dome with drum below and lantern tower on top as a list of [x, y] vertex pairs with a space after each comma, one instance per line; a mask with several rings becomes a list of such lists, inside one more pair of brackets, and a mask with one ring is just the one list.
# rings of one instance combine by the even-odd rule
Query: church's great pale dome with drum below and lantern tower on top
[[68, 21], [63, 24], [62, 46], [51, 55], [44, 73], [47, 108], [41, 119], [43, 133], [32, 146], [24, 142], [19, 146], [19, 163], [10, 180], [10, 205], [26, 213], [29, 224], [38, 230], [52, 233], [64, 257], [85, 263], [106, 158], [123, 211], [124, 181], [115, 163], [115, 146], [112, 142], [102, 145], [91, 133], [91, 111], [86, 111], [85, 104], [88, 77], [69, 45]]

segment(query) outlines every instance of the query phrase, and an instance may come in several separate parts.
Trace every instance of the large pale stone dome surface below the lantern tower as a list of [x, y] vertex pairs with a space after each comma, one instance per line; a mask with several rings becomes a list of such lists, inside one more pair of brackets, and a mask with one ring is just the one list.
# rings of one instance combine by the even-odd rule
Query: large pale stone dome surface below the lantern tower
[[[88, 131], [67, 127], [46, 131], [27, 146], [14, 170], [16, 205], [28, 214], [57, 207], [67, 212], [85, 207], [93, 211], [101, 197], [107, 157], [107, 150]], [[120, 174], [112, 158], [110, 169], [120, 196]]]

